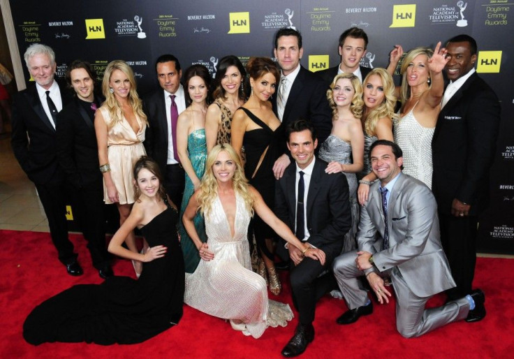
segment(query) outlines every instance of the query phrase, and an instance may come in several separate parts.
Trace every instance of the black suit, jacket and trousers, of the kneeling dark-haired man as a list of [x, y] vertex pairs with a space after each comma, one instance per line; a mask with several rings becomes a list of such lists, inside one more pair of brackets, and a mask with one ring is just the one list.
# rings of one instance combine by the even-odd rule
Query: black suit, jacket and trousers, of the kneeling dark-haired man
[[[316, 302], [328, 290], [327, 277], [321, 276], [332, 268], [332, 261], [341, 254], [344, 235], [351, 227], [351, 211], [348, 201], [348, 182], [342, 173], [325, 173], [327, 163], [316, 159], [307, 193], [307, 228], [310, 237], [307, 242], [326, 254], [325, 265], [311, 258], [304, 258], [291, 268], [291, 289], [295, 306], [300, 313], [300, 323], [307, 325], [314, 321]], [[291, 230], [296, 220], [296, 163], [291, 163], [284, 176], [275, 186], [275, 213]], [[284, 241], [279, 242], [277, 254], [288, 257]], [[284, 258], [284, 259], [286, 259]]]

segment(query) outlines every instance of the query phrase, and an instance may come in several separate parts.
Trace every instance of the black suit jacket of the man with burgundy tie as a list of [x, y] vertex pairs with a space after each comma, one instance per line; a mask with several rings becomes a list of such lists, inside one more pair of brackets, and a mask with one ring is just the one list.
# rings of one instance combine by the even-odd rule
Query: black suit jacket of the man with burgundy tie
[[[163, 89], [159, 88], [144, 98], [143, 110], [148, 117], [149, 123], [143, 145], [145, 145], [148, 156], [152, 157], [159, 164], [161, 173], [166, 173], [168, 125], [170, 122], [166, 117], [166, 102], [164, 101]], [[173, 135], [176, 134], [173, 133]]]

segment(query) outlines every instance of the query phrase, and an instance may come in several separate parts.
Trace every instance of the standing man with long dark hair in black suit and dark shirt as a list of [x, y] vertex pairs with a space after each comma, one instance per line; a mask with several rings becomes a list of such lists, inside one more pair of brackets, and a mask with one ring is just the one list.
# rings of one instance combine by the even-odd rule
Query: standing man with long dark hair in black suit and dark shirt
[[57, 115], [57, 158], [73, 186], [73, 212], [87, 240], [94, 268], [103, 279], [113, 275], [105, 248], [103, 179], [98, 166], [94, 114], [102, 100], [94, 95], [94, 75], [86, 61], [75, 60], [66, 70], [75, 98]]

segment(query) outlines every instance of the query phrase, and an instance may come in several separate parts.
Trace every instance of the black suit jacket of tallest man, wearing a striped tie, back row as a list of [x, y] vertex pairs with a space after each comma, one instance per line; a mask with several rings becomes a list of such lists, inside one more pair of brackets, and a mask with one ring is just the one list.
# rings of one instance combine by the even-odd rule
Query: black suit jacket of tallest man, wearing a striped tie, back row
[[[284, 126], [297, 119], [308, 119], [318, 131], [318, 142], [323, 143], [332, 131], [332, 110], [326, 95], [323, 80], [300, 66], [284, 109]], [[273, 112], [277, 115], [277, 96], [272, 97], [272, 104]]]

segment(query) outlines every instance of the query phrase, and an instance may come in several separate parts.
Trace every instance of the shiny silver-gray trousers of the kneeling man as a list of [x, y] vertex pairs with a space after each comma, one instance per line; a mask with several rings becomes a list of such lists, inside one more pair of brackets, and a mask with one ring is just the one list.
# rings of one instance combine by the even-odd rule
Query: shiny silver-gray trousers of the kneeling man
[[[357, 269], [355, 258], [357, 251], [351, 251], [335, 258], [332, 264], [337, 285], [343, 293], [348, 309], [361, 307], [368, 300], [367, 291], [358, 280], [364, 272]], [[395, 288], [396, 328], [403, 337], [419, 337], [447, 323], [460, 321], [468, 315], [469, 302], [466, 298], [448, 302], [441, 307], [425, 309], [431, 297], [421, 298], [414, 294], [396, 267], [382, 274], [390, 275], [392, 286]]]

